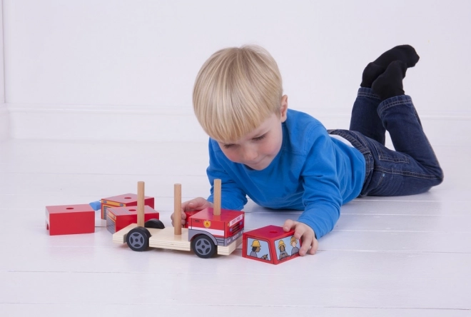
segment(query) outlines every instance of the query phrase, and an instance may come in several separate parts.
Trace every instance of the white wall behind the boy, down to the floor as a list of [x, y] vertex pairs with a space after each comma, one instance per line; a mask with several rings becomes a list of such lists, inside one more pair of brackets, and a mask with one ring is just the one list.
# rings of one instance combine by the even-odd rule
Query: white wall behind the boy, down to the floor
[[[448, 130], [471, 119], [467, 0], [4, 0], [4, 21], [14, 137], [133, 139], [120, 126], [141, 118], [130, 116], [136, 109], [150, 125], [144, 139], [203, 139], [191, 110], [196, 73], [217, 49], [241, 44], [265, 46], [290, 107], [335, 124], [328, 128], [348, 127], [365, 65], [412, 44], [421, 59], [405, 91], [425, 126], [430, 119]], [[103, 118], [113, 119], [106, 129]]]

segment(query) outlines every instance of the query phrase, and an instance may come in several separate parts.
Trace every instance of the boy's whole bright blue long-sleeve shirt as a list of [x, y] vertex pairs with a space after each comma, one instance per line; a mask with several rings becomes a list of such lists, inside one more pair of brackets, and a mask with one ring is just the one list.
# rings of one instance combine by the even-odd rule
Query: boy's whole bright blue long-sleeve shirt
[[[298, 221], [320, 238], [332, 231], [340, 206], [360, 194], [365, 158], [331, 138], [317, 119], [288, 109], [280, 152], [267, 168], [256, 171], [230, 161], [210, 139], [207, 173], [211, 186], [221, 178], [222, 208], [242, 210], [249, 196], [263, 207], [303, 210]], [[213, 187], [208, 201], [213, 202]]]

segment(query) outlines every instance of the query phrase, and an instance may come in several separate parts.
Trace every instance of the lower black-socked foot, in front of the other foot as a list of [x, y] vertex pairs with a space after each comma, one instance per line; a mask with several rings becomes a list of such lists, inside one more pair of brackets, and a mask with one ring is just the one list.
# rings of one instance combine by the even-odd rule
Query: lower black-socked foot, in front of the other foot
[[380, 99], [386, 100], [394, 96], [402, 96], [402, 79], [405, 77], [407, 64], [403, 61], [393, 61], [378, 79], [373, 81], [371, 89], [380, 96]]

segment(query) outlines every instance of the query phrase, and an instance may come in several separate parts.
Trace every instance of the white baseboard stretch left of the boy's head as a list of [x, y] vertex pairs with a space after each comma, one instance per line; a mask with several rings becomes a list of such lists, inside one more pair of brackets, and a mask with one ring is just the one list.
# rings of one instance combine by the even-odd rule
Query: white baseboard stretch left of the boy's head
[[191, 109], [9, 104], [14, 139], [207, 141]]

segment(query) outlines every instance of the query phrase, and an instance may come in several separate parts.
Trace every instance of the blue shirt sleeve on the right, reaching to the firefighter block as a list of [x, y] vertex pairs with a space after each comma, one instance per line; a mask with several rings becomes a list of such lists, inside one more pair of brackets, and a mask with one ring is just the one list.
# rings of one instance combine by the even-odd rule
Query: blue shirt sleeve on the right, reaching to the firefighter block
[[313, 228], [316, 238], [332, 231], [340, 217], [343, 201], [333, 142], [324, 130], [319, 132], [315, 129], [310, 134], [314, 141], [302, 171], [305, 210], [298, 218], [298, 221]]

